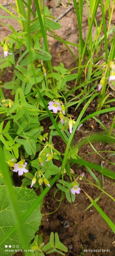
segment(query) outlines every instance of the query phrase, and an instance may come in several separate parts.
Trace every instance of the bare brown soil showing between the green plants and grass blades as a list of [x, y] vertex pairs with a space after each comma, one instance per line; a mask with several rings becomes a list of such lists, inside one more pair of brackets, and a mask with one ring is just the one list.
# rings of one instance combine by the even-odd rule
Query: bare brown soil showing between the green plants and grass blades
[[[55, 6], [55, 2], [56, 1], [46, 1], [46, 4], [49, 6], [50, 11]], [[62, 2], [65, 4], [65, 1], [62, 1]], [[6, 4], [6, 1], [5, 1], [5, 4]], [[86, 7], [84, 6], [84, 13], [85, 13], [85, 8]], [[53, 16], [58, 17], [63, 11], [64, 11], [64, 8], [62, 7], [62, 5], [58, 5], [53, 13]], [[101, 15], [100, 9], [97, 15], [98, 16]], [[70, 40], [77, 44], [79, 37], [77, 35], [77, 24], [76, 24], [74, 9], [72, 9], [71, 12], [66, 14], [66, 16], [64, 16], [61, 19], [61, 24], [62, 24], [62, 30], [56, 31], [56, 33], [62, 36], [63, 39], [66, 39], [68, 41]], [[85, 39], [86, 38], [85, 35], [87, 33], [86, 32], [87, 31], [86, 14], [84, 14], [83, 16], [83, 31], [84, 31], [84, 39]], [[2, 40], [4, 36], [7, 36], [7, 32], [8, 31], [3, 32], [3, 34], [1, 35], [2, 38], [0, 40]], [[72, 65], [75, 65], [70, 52], [68, 52], [60, 42], [55, 41], [49, 37], [49, 44], [50, 44], [51, 54], [53, 56], [53, 59], [52, 59], [53, 66], [58, 65], [58, 63], [61, 61], [64, 63], [65, 67], [68, 69], [69, 67], [72, 68]], [[75, 48], [72, 48], [72, 50], [75, 56], [77, 57], [77, 52], [75, 52]], [[10, 70], [10, 72], [7, 72], [7, 76], [5, 74], [2, 76], [1, 80], [3, 82], [10, 81], [12, 74], [13, 74], [13, 71]], [[8, 91], [4, 90], [4, 93], [6, 93], [6, 97], [7, 97]], [[114, 106], [114, 103], [112, 103], [112, 106]], [[80, 106], [80, 108], [82, 107], [83, 106]], [[94, 101], [89, 105], [85, 115], [88, 115], [89, 113], [93, 113], [96, 110], [96, 107], [97, 107], [97, 101]], [[80, 108], [76, 112], [74, 108], [71, 108], [69, 110], [70, 111], [69, 113], [72, 114], [76, 119], [81, 112]], [[114, 113], [109, 113], [109, 114], [101, 115], [98, 118], [107, 127], [107, 129], [109, 129], [113, 116], [114, 116]], [[49, 128], [50, 121], [49, 119], [47, 119], [47, 121], [48, 121], [48, 125], [45, 125], [45, 132], [46, 131], [48, 132], [48, 128]], [[100, 131], [103, 132], [100, 124], [97, 123], [94, 119], [89, 119], [81, 127], [81, 131], [76, 132], [74, 143], [76, 144], [79, 140], [81, 140], [81, 138], [88, 136], [88, 134], [90, 133], [100, 132]], [[59, 137], [53, 138], [53, 143], [54, 143], [54, 146], [61, 153], [64, 153], [65, 145], [59, 139]], [[103, 143], [93, 143], [93, 145], [97, 151], [106, 150], [106, 151], [112, 151], [112, 153], [114, 153], [114, 145], [103, 144]], [[83, 157], [84, 155], [86, 155], [83, 158], [84, 160], [91, 161], [99, 165], [102, 163], [102, 160], [103, 160], [104, 167], [110, 168], [111, 170], [114, 171], [114, 165], [111, 165], [110, 163], [107, 162], [108, 160], [114, 163], [114, 156], [107, 156], [108, 154], [109, 153], [100, 153], [102, 157], [106, 158], [106, 160], [103, 160], [99, 155], [95, 154], [93, 148], [89, 144], [84, 145], [79, 151], [79, 156]], [[77, 175], [81, 175], [81, 173], [84, 172], [85, 179], [95, 183], [94, 179], [91, 177], [91, 175], [88, 173], [88, 170], [86, 170], [85, 167], [78, 167], [77, 165], [74, 164], [72, 168]], [[94, 173], [102, 184], [102, 176], [98, 172], [94, 172]], [[108, 194], [110, 194], [113, 198], [115, 198], [113, 182], [114, 182], [113, 180], [107, 177], [104, 177], [103, 189]], [[90, 201], [88, 200], [85, 193], [87, 193], [91, 198], [95, 200], [99, 197], [100, 190], [97, 189], [95, 186], [89, 184], [85, 180], [82, 180], [80, 184], [81, 184], [82, 190], [81, 190], [81, 193], [76, 196], [76, 200], [74, 203], [70, 204], [67, 202], [66, 198], [64, 198], [60, 208], [54, 214], [47, 215], [53, 212], [58, 207], [58, 202], [53, 197], [54, 192], [57, 189], [56, 184], [51, 188], [48, 195], [44, 198], [44, 203], [42, 207], [42, 214], [43, 214], [42, 224], [40, 226], [40, 230], [38, 231], [38, 233], [39, 232], [42, 233], [43, 240], [45, 243], [47, 243], [50, 237], [50, 233], [52, 231], [58, 232], [60, 241], [68, 248], [68, 252], [66, 253], [66, 256], [80, 256], [80, 255], [113, 256], [114, 245], [115, 245], [115, 243], [113, 243], [115, 242], [114, 233], [111, 231], [110, 227], [107, 225], [107, 223], [103, 220], [103, 218], [99, 215], [99, 213], [93, 206], [91, 206], [88, 210], [85, 210], [90, 204]], [[60, 199], [61, 193], [60, 192], [57, 193], [56, 197], [57, 199]], [[98, 205], [105, 212], [105, 214], [112, 220], [112, 222], [115, 222], [113, 200], [111, 200], [104, 193], [102, 193], [101, 199], [98, 201]], [[68, 227], [64, 227], [65, 221], [69, 223]], [[92, 251], [84, 252], [84, 254], [80, 254], [82, 252], [82, 246], [85, 250], [90, 249]], [[102, 250], [105, 250], [105, 252], [103, 252]], [[106, 252], [106, 250], [109, 250], [109, 251]], [[22, 254], [19, 252], [15, 254], [15, 256], [21, 256], [21, 255]], [[52, 253], [51, 255], [56, 256], [57, 254]]]

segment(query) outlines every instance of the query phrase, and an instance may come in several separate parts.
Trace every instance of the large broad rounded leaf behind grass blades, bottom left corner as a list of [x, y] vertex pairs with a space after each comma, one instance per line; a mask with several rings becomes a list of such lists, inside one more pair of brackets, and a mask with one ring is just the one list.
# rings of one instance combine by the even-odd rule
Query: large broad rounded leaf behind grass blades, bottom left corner
[[[27, 189], [22, 187], [14, 187], [15, 195], [17, 197], [17, 202], [20, 209], [20, 216], [24, 215], [26, 211], [31, 207], [31, 205], [36, 201], [37, 196], [33, 189]], [[8, 230], [10, 230], [15, 225], [15, 218], [13, 215], [12, 206], [9, 202], [9, 197], [6, 192], [5, 186], [0, 186], [0, 218], [2, 228], [0, 229], [0, 237], [2, 238], [5, 234], [7, 234]], [[27, 218], [24, 222], [24, 228], [26, 232], [26, 239], [28, 243], [34, 238], [35, 232], [38, 230], [40, 221], [41, 221], [41, 212], [40, 206], [38, 205], [32, 214]], [[5, 244], [15, 245], [21, 247], [21, 241], [18, 236], [18, 232], [15, 231], [9, 239], [6, 240]], [[5, 252], [5, 244], [0, 247], [0, 255], [11, 256], [14, 252]]]

